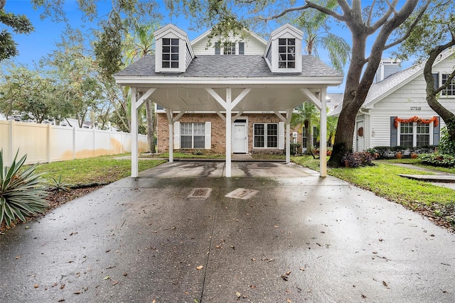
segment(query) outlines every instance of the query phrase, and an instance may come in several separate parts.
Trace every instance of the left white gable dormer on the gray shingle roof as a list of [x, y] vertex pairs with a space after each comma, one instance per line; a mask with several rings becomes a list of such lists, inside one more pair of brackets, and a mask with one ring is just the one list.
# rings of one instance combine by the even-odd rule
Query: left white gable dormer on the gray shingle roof
[[180, 28], [168, 24], [155, 31], [155, 72], [186, 72], [194, 59], [188, 35]]

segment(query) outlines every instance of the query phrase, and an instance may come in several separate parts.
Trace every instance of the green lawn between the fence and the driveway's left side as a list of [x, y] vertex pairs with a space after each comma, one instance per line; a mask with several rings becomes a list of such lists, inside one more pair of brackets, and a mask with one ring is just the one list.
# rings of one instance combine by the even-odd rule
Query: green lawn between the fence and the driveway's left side
[[[131, 175], [131, 160], [117, 159], [119, 155], [43, 163], [36, 172], [43, 173], [49, 182], [54, 178], [68, 184], [110, 183]], [[139, 172], [166, 162], [165, 160], [139, 160]]]

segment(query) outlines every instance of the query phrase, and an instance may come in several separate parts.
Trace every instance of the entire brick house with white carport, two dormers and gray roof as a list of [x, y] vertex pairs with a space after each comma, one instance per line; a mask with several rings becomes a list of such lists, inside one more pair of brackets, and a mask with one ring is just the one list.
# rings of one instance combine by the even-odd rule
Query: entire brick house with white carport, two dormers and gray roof
[[[268, 41], [245, 32], [222, 45], [213, 38], [211, 46], [209, 34], [191, 43], [180, 28], [164, 26], [154, 33], [156, 55], [114, 76], [132, 88], [133, 135], [138, 109], [151, 99], [158, 104], [158, 150], [168, 150], [170, 161], [176, 149], [225, 153], [227, 177], [232, 153], [286, 150], [289, 162], [291, 115], [304, 101], [321, 111], [325, 136], [326, 89], [341, 84], [343, 75], [301, 55], [301, 31], [286, 24]], [[137, 177], [137, 148], [132, 150], [132, 177]]]

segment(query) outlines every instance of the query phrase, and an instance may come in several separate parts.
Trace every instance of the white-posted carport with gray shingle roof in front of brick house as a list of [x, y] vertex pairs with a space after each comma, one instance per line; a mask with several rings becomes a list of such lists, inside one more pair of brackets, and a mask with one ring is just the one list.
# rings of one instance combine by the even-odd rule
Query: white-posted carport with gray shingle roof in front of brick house
[[[321, 113], [320, 136], [326, 138], [326, 90], [343, 75], [316, 57], [302, 56], [302, 72], [272, 73], [262, 56], [199, 56], [186, 72], [155, 72], [147, 55], [115, 75], [132, 90], [132, 177], [138, 176], [138, 111], [147, 99], [166, 109], [169, 162], [173, 162], [173, 123], [186, 113], [216, 113], [225, 121], [226, 170], [231, 177], [232, 121], [244, 113], [274, 113], [285, 123], [286, 162], [290, 162], [290, 123], [296, 106], [310, 101]], [[326, 177], [326, 141], [320, 143], [321, 177]]]

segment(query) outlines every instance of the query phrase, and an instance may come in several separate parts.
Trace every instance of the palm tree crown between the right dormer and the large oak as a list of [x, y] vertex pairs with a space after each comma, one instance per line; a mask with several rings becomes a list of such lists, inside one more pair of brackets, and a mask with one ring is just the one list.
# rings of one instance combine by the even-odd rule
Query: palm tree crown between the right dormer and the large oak
[[[337, 5], [336, 0], [330, 0], [326, 6], [328, 9], [334, 9]], [[331, 65], [338, 72], [342, 72], [349, 59], [350, 46], [343, 38], [330, 33], [327, 18], [328, 15], [321, 11], [306, 9], [293, 23], [304, 32], [306, 53], [319, 57], [319, 48], [327, 50]]]

